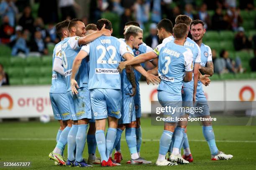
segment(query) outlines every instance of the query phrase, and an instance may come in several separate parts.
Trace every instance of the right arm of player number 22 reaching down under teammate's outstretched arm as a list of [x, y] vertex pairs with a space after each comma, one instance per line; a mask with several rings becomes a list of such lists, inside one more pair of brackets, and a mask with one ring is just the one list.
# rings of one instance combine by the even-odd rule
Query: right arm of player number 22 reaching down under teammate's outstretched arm
[[[148, 52], [149, 53], [149, 52]], [[154, 53], [154, 52], [153, 52]], [[147, 54], [147, 53], [145, 53], [145, 54]], [[143, 54], [142, 54], [143, 55]], [[156, 54], [155, 54], [156, 55]], [[123, 57], [125, 58], [125, 60], [127, 60], [127, 61], [131, 61], [131, 60], [134, 60], [134, 59], [136, 59], [137, 57], [133, 57], [130, 53], [125, 53], [124, 55], [123, 55]], [[149, 59], [149, 60], [151, 60], [151, 59]], [[125, 61], [125, 62], [127, 62], [127, 61]], [[119, 65], [120, 66], [120, 65]], [[119, 66], [118, 66], [118, 71], [119, 72], [122, 72], [122, 70], [125, 68], [123, 68], [122, 70], [119, 68]], [[155, 75], [152, 75], [152, 74], [149, 74], [148, 72], [146, 72], [146, 70], [144, 70], [144, 68], [140, 65], [140, 64], [133, 64], [133, 68], [135, 69], [135, 70], [137, 70], [138, 72], [140, 72], [141, 73], [141, 75], [143, 75], [144, 77], [146, 77], [146, 79], [148, 79], [148, 81], [149, 82], [151, 82], [153, 85], [155, 85], [155, 83], [156, 84], [158, 84], [158, 83], [160, 83], [161, 82], [161, 80], [159, 79], [159, 77], [157, 77], [157, 76], [155, 76]]]

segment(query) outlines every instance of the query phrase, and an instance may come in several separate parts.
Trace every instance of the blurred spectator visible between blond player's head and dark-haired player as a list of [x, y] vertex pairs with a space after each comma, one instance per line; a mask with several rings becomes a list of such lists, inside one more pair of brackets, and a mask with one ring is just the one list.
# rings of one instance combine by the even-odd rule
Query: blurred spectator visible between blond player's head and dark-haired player
[[151, 48], [155, 49], [157, 45], [159, 45], [159, 39], [157, 37], [157, 30], [156, 30], [156, 24], [152, 23], [150, 25], [150, 35], [146, 37], [145, 40], [146, 45], [150, 46]]

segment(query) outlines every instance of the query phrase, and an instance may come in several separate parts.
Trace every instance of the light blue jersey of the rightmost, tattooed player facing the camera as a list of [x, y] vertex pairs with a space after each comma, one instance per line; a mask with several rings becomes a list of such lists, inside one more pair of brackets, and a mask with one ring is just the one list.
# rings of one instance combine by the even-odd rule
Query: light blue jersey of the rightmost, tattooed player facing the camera
[[[201, 44], [200, 46], [201, 50], [201, 66], [205, 67], [207, 62], [212, 61], [212, 50], [208, 45]], [[202, 92], [202, 82], [198, 81], [197, 83], [197, 93]]]

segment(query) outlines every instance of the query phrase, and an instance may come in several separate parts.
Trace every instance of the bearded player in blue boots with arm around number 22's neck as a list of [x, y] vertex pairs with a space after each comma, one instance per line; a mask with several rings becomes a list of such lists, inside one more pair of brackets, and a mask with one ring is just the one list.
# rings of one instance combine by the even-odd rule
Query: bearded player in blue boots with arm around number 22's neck
[[[68, 159], [66, 166], [88, 167], [91, 165], [87, 165], [82, 157], [88, 121], [92, 118], [90, 91], [88, 90], [87, 62], [82, 62], [83, 67], [81, 67], [79, 72], [75, 75], [78, 80], [77, 86], [79, 86], [78, 95], [72, 94], [70, 86], [72, 63], [81, 49], [81, 45], [87, 44], [101, 35], [110, 35], [110, 31], [103, 27], [99, 32], [82, 37], [86, 31], [84, 23], [79, 19], [71, 20], [68, 29], [69, 37], [61, 42], [61, 56], [66, 77], [67, 96], [73, 120], [73, 125], [68, 135]], [[76, 156], [74, 157], [75, 149]]]

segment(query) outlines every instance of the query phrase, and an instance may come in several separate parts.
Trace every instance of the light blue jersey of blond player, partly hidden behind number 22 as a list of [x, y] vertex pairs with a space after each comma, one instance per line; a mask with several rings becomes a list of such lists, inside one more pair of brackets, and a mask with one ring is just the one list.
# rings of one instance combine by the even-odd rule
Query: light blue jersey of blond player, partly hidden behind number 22
[[[127, 46], [130, 53], [133, 55], [133, 50], [131, 47]], [[134, 56], [134, 55], [133, 55]], [[122, 57], [122, 61], [125, 61], [125, 59]], [[133, 68], [132, 68], [133, 69]], [[131, 85], [131, 82], [127, 78], [126, 70], [123, 70], [121, 73], [121, 90], [122, 90], [122, 97], [131, 97], [130, 94], [133, 93], [133, 87]]]

